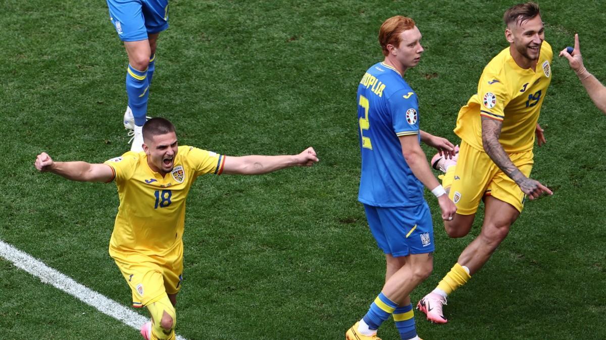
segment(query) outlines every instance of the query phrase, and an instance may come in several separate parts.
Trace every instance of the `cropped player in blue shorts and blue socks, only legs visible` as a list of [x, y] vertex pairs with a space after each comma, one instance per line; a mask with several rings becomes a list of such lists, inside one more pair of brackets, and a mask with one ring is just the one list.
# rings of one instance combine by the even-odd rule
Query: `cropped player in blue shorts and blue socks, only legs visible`
[[151, 78], [155, 71], [156, 42], [168, 28], [168, 0], [107, 0], [110, 20], [128, 54], [124, 127], [132, 129], [130, 150], [143, 151], [141, 127], [147, 117]]

